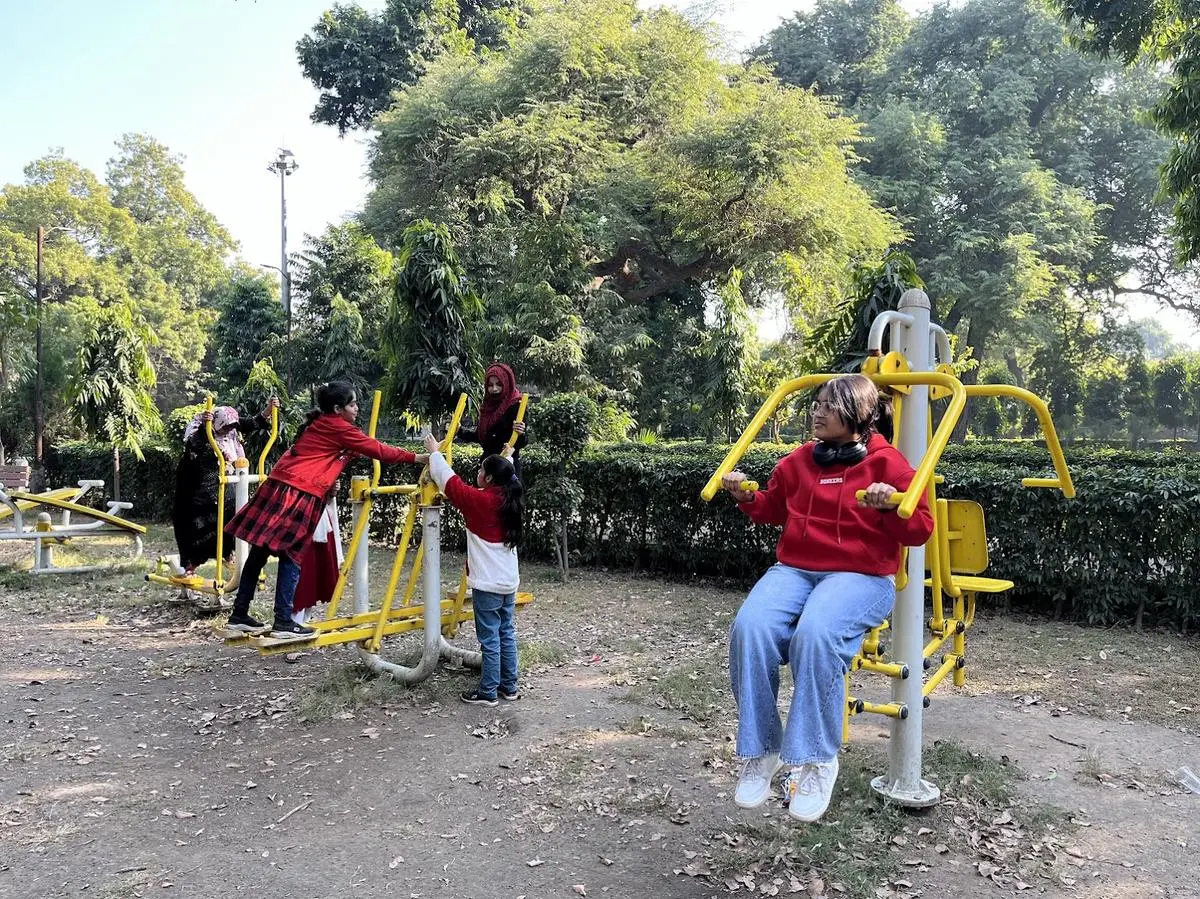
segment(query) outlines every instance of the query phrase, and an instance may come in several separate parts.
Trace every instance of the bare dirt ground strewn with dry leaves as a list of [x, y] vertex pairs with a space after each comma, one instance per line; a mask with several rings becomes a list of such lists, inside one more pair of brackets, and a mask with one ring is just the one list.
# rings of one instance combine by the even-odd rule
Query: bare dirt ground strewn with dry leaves
[[925, 713], [942, 804], [874, 797], [863, 715], [803, 827], [731, 802], [739, 591], [524, 575], [522, 697], [491, 709], [464, 670], [228, 648], [139, 571], [0, 574], [0, 894], [1200, 897], [1195, 640], [983, 617]]

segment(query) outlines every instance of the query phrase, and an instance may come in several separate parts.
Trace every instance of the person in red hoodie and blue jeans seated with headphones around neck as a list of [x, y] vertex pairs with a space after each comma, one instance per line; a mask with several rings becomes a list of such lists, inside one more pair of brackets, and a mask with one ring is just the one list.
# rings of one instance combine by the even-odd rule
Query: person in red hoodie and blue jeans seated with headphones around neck
[[[780, 460], [767, 490], [745, 490], [740, 472], [722, 481], [751, 521], [784, 527], [778, 563], [730, 631], [743, 759], [733, 801], [742, 808], [766, 802], [785, 765], [792, 817], [816, 821], [829, 807], [845, 673], [865, 631], [892, 611], [901, 546], [920, 546], [934, 532], [924, 497], [907, 521], [889, 502], [913, 478], [884, 436], [890, 430], [890, 404], [870, 378], [835, 378], [812, 403], [816, 440]], [[862, 502], [859, 490], [866, 491]], [[786, 726], [778, 711], [782, 664], [794, 684]]]

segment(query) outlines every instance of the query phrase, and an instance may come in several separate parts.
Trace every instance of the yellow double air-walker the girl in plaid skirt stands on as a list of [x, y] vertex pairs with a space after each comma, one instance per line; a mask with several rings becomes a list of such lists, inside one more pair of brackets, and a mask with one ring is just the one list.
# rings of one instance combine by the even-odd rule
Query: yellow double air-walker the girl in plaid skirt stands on
[[[517, 421], [524, 421], [528, 396], [521, 397]], [[374, 437], [379, 424], [379, 400], [376, 391], [371, 403], [371, 420], [367, 433]], [[467, 407], [467, 395], [458, 397], [450, 426], [442, 443], [442, 453], [451, 461], [454, 437], [458, 432], [463, 410]], [[516, 443], [517, 433], [512, 432], [509, 446]], [[356, 645], [359, 658], [372, 671], [389, 675], [406, 684], [415, 684], [427, 678], [437, 667], [438, 661], [448, 659], [460, 665], [478, 667], [481, 663], [479, 652], [463, 649], [452, 645], [452, 637], [458, 625], [470, 621], [474, 611], [467, 595], [467, 579], [463, 573], [457, 588], [443, 594], [442, 586], [442, 504], [440, 495], [426, 468], [416, 484], [380, 485], [382, 466], [372, 463], [371, 477], [358, 475], [350, 481], [352, 537], [337, 579], [337, 586], [330, 598], [323, 621], [311, 622], [313, 635], [305, 639], [277, 639], [265, 634], [247, 635], [220, 629], [227, 645], [248, 645], [264, 655], [292, 653], [326, 646]], [[391, 573], [377, 609], [371, 604], [371, 583], [368, 568], [368, 535], [371, 531], [371, 511], [379, 501], [394, 497], [408, 499], [408, 511], [404, 515], [400, 540], [392, 558]], [[421, 520], [421, 541], [413, 551], [413, 563], [403, 588], [401, 579], [404, 564], [409, 558], [413, 535], [416, 532], [416, 520]], [[418, 604], [418, 582], [421, 583], [421, 603]], [[354, 611], [350, 615], [338, 615], [341, 601], [347, 587], [352, 589]], [[533, 600], [530, 593], [517, 593], [517, 607]], [[420, 630], [424, 634], [421, 659], [415, 666], [398, 665], [379, 655], [384, 637]]]

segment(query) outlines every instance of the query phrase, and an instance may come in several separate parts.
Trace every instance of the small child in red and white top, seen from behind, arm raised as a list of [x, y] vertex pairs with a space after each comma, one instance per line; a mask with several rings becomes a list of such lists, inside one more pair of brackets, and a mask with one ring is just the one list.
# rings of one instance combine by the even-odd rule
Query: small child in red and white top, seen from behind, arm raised
[[467, 586], [484, 655], [479, 687], [461, 699], [475, 706], [494, 706], [497, 697], [511, 702], [521, 699], [514, 612], [521, 582], [517, 544], [524, 528], [524, 487], [504, 456], [484, 456], [476, 486], [470, 487], [450, 468], [439, 445], [432, 434], [425, 438], [430, 475], [467, 523]]

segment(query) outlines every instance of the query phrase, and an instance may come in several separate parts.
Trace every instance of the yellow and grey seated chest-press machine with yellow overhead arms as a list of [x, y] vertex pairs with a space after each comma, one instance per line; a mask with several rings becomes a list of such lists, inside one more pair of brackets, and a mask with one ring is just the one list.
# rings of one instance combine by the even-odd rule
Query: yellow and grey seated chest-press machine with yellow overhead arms
[[[887, 354], [882, 352], [884, 336], [889, 337], [893, 348]], [[906, 290], [895, 311], [883, 312], [875, 319], [868, 337], [868, 353], [863, 374], [892, 394], [895, 408], [893, 442], [916, 471], [908, 489], [894, 493], [892, 502], [898, 504], [896, 514], [908, 519], [925, 495], [934, 515], [934, 533], [925, 546], [908, 547], [902, 555], [892, 618], [866, 634], [851, 665], [852, 670], [889, 677], [892, 701], [868, 702], [851, 696], [847, 673], [842, 732], [848, 739], [850, 717], [854, 714], [866, 712], [889, 718], [888, 773], [875, 778], [871, 786], [900, 805], [924, 808], [936, 804], [940, 798], [937, 786], [922, 778], [923, 712], [929, 706], [930, 694], [950, 675], [955, 685], [966, 683], [966, 631], [974, 621], [976, 595], [1002, 593], [1013, 587], [1012, 581], [983, 576], [988, 568], [983, 508], [966, 501], [937, 498], [937, 484], [942, 478], [936, 467], [967, 400], [1007, 396], [1030, 406], [1044, 433], [1055, 475], [1025, 478], [1021, 484], [1060, 490], [1067, 498], [1075, 496], [1075, 486], [1046, 404], [1028, 390], [1007, 384], [964, 384], [952, 366], [946, 331], [930, 322], [930, 302], [924, 292]], [[780, 384], [713, 473], [701, 496], [709, 501], [716, 495], [721, 478], [733, 471], [787, 397], [820, 388], [835, 377], [839, 376], [808, 374]], [[935, 430], [931, 403], [944, 398], [949, 402]], [[862, 498], [863, 492], [858, 496]], [[931, 636], [923, 643], [926, 587], [930, 591], [928, 625]], [[948, 615], [946, 598], [950, 600]], [[890, 646], [884, 643], [887, 634], [892, 637]], [[941, 660], [935, 661], [938, 652], [942, 652]], [[926, 676], [926, 671], [931, 673]]]

